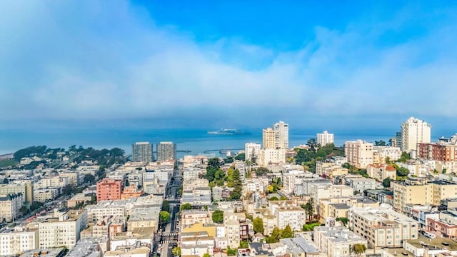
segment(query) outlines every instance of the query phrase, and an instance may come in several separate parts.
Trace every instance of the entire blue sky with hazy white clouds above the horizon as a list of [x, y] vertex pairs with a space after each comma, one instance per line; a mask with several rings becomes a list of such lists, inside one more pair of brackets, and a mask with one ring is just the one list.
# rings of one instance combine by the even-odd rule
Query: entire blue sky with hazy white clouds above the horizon
[[4, 1], [0, 125], [457, 122], [455, 1]]

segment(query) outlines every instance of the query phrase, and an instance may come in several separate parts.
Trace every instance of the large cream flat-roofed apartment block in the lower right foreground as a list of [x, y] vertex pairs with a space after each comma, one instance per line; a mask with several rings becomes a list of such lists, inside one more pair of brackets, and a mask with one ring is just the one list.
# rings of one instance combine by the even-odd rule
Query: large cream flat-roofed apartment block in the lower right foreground
[[351, 208], [349, 228], [373, 248], [399, 247], [403, 240], [418, 238], [418, 221], [390, 207]]

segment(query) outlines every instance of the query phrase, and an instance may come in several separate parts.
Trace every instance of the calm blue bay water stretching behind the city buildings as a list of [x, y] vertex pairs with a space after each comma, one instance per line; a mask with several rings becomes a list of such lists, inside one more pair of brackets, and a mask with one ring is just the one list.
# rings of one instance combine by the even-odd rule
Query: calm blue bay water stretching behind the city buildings
[[[13, 153], [26, 146], [46, 145], [50, 148], [69, 148], [69, 146], [84, 146], [94, 148], [114, 148], [119, 147], [131, 153], [131, 144], [136, 141], [149, 141], [156, 143], [159, 141], [174, 141], [178, 150], [189, 149], [191, 153], [203, 153], [210, 149], [229, 149], [244, 148], [244, 143], [261, 143], [261, 129], [249, 131], [249, 134], [237, 136], [209, 135], [206, 130], [191, 129], [14, 129], [0, 130], [0, 154]], [[317, 132], [317, 131], [316, 131]], [[315, 138], [314, 131], [289, 131], [289, 145], [298, 146], [305, 144], [308, 138]], [[356, 132], [336, 133], [335, 141], [337, 146], [342, 146], [344, 141], [364, 139], [374, 141], [383, 139], [388, 141], [394, 133], [373, 132], [367, 135], [356, 134]], [[219, 152], [216, 156], [219, 156]], [[178, 153], [184, 156], [184, 153]]]

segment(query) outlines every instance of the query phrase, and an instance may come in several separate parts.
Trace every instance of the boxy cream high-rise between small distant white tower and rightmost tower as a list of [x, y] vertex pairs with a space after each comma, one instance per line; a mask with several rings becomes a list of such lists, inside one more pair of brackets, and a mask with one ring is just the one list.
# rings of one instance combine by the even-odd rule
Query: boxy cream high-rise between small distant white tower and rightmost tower
[[344, 143], [344, 154], [348, 163], [357, 168], [366, 168], [373, 163], [373, 143], [366, 141], [346, 141]]

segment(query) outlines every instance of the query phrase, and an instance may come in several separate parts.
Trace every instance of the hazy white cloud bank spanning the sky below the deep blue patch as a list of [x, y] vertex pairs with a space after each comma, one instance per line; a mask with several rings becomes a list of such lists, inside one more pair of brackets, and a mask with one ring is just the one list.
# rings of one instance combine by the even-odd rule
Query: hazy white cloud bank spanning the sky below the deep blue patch
[[0, 119], [454, 118], [456, 10], [415, 11], [316, 25], [280, 51], [241, 36], [200, 42], [128, 1], [6, 2]]

